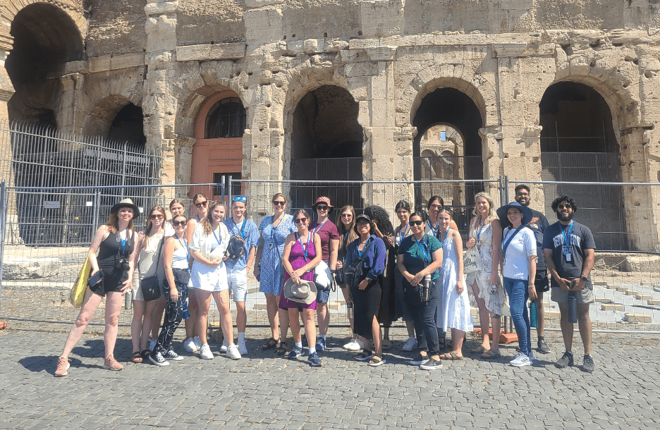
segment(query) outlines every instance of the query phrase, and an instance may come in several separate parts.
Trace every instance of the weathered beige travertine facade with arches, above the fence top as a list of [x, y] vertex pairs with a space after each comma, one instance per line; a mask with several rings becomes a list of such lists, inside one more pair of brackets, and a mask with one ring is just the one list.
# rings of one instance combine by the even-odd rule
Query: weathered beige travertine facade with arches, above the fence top
[[[659, 180], [655, 0], [2, 0], [0, 11], [3, 59], [29, 39], [52, 44], [56, 63], [20, 85], [27, 59], [0, 68], [0, 116], [47, 109], [59, 130], [103, 135], [141, 106], [164, 183], [190, 182], [200, 106], [218, 92], [247, 110], [243, 176], [290, 178], [294, 111], [324, 85], [358, 104], [365, 180], [412, 179], [415, 116], [439, 88], [478, 109], [484, 178], [539, 180], [539, 103], [561, 81], [609, 106], [621, 178]], [[640, 201], [660, 195], [625, 195]], [[657, 248], [656, 221], [640, 248]]]

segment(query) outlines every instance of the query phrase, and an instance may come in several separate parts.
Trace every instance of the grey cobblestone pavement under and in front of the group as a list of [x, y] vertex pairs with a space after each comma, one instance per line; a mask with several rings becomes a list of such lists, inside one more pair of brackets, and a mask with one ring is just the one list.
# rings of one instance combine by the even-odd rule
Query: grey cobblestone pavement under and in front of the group
[[[126, 361], [123, 334], [115, 355]], [[594, 334], [596, 371], [587, 374], [577, 366], [580, 345], [576, 367], [554, 367], [563, 352], [558, 333], [547, 337], [551, 353], [538, 354], [531, 368], [508, 365], [512, 344], [498, 361], [466, 357], [436, 371], [407, 363], [402, 334], [381, 367], [353, 360], [339, 347], [343, 338], [330, 339], [317, 369], [305, 357], [263, 352], [262, 339], [253, 338], [238, 361], [214, 344], [214, 360], [187, 355], [169, 367], [125, 364], [113, 372], [101, 367], [102, 336], [90, 333], [73, 350], [69, 375], [54, 378], [66, 333], [10, 321], [0, 331], [0, 429], [660, 427], [660, 336]], [[181, 348], [183, 330], [177, 335]]]

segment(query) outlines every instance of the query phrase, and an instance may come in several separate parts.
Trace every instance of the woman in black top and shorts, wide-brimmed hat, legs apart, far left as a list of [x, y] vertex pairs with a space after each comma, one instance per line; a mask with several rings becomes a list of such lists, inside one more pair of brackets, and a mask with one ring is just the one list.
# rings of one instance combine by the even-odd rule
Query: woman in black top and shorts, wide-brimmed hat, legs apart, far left
[[[90, 251], [87, 253], [87, 258], [90, 259], [92, 266], [90, 279], [98, 272], [101, 272], [102, 278], [85, 291], [80, 314], [75, 319], [66, 343], [64, 343], [62, 355], [57, 360], [55, 376], [66, 376], [69, 368], [68, 356], [80, 340], [87, 324], [90, 324], [104, 296], [106, 297], [106, 307], [103, 367], [109, 370], [123, 369], [123, 366], [114, 358], [114, 347], [123, 295], [133, 286], [133, 264], [135, 256], [138, 254], [138, 247], [135, 246], [137, 235], [133, 232], [133, 219], [140, 215], [140, 209], [133, 204], [133, 200], [123, 199], [115, 204], [110, 212], [108, 222], [99, 227], [92, 240]], [[99, 252], [98, 256], [97, 252]]]

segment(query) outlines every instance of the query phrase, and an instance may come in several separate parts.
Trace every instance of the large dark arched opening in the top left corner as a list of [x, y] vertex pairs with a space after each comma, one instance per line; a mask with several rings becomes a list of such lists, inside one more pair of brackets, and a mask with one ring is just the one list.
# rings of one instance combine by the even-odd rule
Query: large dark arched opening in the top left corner
[[16, 93], [9, 119], [56, 128], [55, 114], [66, 62], [82, 59], [82, 37], [64, 11], [51, 4], [25, 6], [11, 23], [13, 49], [6, 69]]

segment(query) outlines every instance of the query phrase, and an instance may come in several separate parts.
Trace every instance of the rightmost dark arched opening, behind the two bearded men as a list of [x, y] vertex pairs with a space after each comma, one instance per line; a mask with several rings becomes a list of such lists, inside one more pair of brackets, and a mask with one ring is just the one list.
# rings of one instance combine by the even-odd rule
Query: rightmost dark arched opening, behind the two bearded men
[[[612, 114], [605, 99], [578, 82], [548, 87], [539, 104], [542, 180], [619, 182], [619, 149]], [[570, 195], [578, 204], [576, 218], [591, 228], [599, 250], [627, 250], [621, 188], [597, 185], [545, 185], [546, 214], [551, 203]], [[607, 198], [604, 198], [607, 196]], [[619, 228], [612, 228], [619, 226]]]

